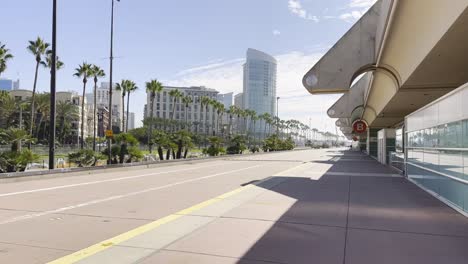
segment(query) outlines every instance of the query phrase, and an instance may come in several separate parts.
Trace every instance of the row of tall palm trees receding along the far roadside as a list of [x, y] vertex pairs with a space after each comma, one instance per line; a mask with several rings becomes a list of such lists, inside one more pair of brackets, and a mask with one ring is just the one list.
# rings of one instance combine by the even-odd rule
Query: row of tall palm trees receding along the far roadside
[[[39, 131], [41, 130], [41, 125], [43, 124], [43, 119], [47, 118], [45, 115], [47, 108], [47, 102], [44, 96], [36, 95], [36, 86], [37, 86], [37, 79], [39, 74], [39, 67], [43, 66], [45, 68], [51, 68], [51, 51], [49, 49], [49, 43], [45, 42], [41, 38], [37, 38], [35, 40], [29, 41], [29, 45], [27, 46], [27, 50], [34, 55], [35, 58], [35, 74], [34, 74], [34, 83], [33, 83], [33, 93], [32, 98], [30, 100], [29, 110], [30, 110], [30, 121], [29, 121], [29, 134], [30, 136], [38, 136]], [[7, 62], [13, 58], [13, 55], [10, 51], [6, 48], [4, 44], [0, 43], [0, 75], [6, 70]], [[56, 58], [57, 69], [60, 69], [64, 66], [63, 62]], [[88, 64], [86, 62], [82, 63], [75, 69], [74, 76], [80, 78], [83, 82], [83, 100], [81, 100], [81, 141], [80, 141], [80, 148], [84, 148], [84, 125], [85, 125], [85, 103], [84, 98], [86, 96], [86, 88], [88, 79], [92, 78], [94, 81], [94, 102], [93, 102], [93, 127], [96, 128], [96, 116], [97, 116], [97, 99], [96, 99], [96, 90], [97, 90], [97, 83], [98, 80], [105, 76], [105, 72], [97, 65]], [[145, 84], [145, 88], [147, 93], [150, 96], [150, 107], [149, 111], [149, 120], [150, 125], [148, 126], [148, 137], [152, 135], [153, 128], [154, 128], [154, 103], [156, 96], [163, 91], [163, 85], [158, 80], [151, 80]], [[135, 92], [138, 87], [135, 82], [131, 80], [122, 80], [120, 83], [116, 85], [116, 89], [122, 92], [122, 132], [128, 132], [128, 116], [129, 116], [129, 108], [130, 108], [130, 95], [131, 93]], [[163, 129], [166, 132], [176, 132], [177, 128], [179, 130], [181, 128], [192, 130], [195, 127], [195, 132], [199, 133], [199, 126], [202, 125], [205, 131], [205, 137], [209, 134], [212, 136], [224, 136], [224, 137], [231, 137], [233, 134], [244, 134], [248, 138], [253, 136], [253, 141], [265, 139], [267, 136], [271, 135], [273, 132], [279, 134], [280, 136], [286, 137], [294, 137], [297, 139], [314, 139], [318, 135], [324, 135], [324, 133], [320, 133], [316, 129], [311, 129], [309, 126], [297, 121], [297, 120], [281, 120], [276, 116], [272, 116], [269, 113], [262, 113], [258, 114], [253, 110], [250, 109], [241, 109], [236, 106], [231, 106], [228, 109], [217, 100], [214, 100], [207, 96], [202, 96], [200, 98], [194, 98], [185, 95], [183, 92], [173, 89], [169, 92], [169, 96], [171, 98], [172, 109], [170, 111], [169, 119], [164, 118], [163, 120]], [[125, 99], [127, 101], [125, 106]], [[175, 120], [175, 113], [176, 113], [176, 104], [180, 103], [182, 107], [185, 108], [185, 121], [184, 122], [177, 122]], [[189, 124], [188, 122], [188, 109], [194, 104], [199, 104], [201, 111], [199, 115], [199, 120]], [[65, 105], [64, 105], [65, 107]], [[68, 106], [67, 106], [68, 107]], [[125, 119], [125, 107], [127, 112], [127, 119]], [[213, 116], [209, 116], [209, 110], [212, 110]], [[36, 112], [41, 112], [39, 122], [35, 122], [34, 118], [36, 116]], [[202, 117], [204, 115], [204, 118]], [[223, 120], [227, 116], [229, 118], [228, 124], [223, 124]], [[212, 123], [212, 131], [209, 133], [209, 123], [208, 118], [210, 118], [213, 122]], [[110, 118], [111, 119], [111, 118]], [[203, 122], [205, 120], [205, 122]], [[234, 125], [234, 120], [236, 121]], [[61, 120], [59, 120], [59, 123]], [[38, 124], [38, 127], [35, 130], [35, 124]], [[146, 122], [148, 123], [148, 122]], [[258, 126], [260, 124], [260, 128]], [[170, 125], [168, 128], [167, 126]], [[261, 127], [263, 125], [263, 127]], [[259, 129], [258, 129], [259, 128]], [[263, 128], [263, 129], [262, 129]], [[96, 149], [96, 129], [94, 130], [93, 135], [93, 149]], [[44, 131], [44, 130], [42, 130]], [[263, 133], [259, 132], [263, 131]], [[61, 131], [62, 132], [62, 131]], [[60, 132], [59, 132], [60, 134]], [[258, 136], [258, 138], [257, 138]], [[149, 141], [150, 142], [150, 141]], [[150, 146], [151, 151], [151, 146]]]

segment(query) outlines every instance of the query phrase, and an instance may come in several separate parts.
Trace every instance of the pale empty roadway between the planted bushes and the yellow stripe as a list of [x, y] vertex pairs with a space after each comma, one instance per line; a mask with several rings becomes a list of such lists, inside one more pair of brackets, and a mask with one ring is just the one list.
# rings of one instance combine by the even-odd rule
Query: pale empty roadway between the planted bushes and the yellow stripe
[[0, 184], [0, 263], [46, 263], [262, 181], [324, 150]]

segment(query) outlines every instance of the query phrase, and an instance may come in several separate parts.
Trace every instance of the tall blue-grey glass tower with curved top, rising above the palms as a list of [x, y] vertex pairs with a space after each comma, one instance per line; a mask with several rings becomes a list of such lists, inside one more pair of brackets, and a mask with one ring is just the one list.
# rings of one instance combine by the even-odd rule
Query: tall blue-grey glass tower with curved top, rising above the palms
[[[271, 55], [248, 49], [244, 64], [244, 109], [254, 110], [257, 115], [275, 115], [276, 108], [277, 62]], [[255, 132], [261, 132], [262, 125], [257, 122]]]

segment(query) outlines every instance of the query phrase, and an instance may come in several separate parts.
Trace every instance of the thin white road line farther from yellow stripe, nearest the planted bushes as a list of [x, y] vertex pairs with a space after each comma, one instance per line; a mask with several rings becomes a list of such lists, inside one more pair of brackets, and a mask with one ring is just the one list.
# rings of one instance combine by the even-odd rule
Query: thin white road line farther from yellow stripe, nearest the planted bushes
[[33, 189], [33, 190], [11, 192], [11, 193], [2, 193], [2, 194], [0, 194], [0, 197], [13, 196], [13, 195], [19, 195], [19, 194], [27, 194], [27, 193], [45, 192], [45, 191], [66, 189], [66, 188], [86, 186], [86, 185], [106, 183], [106, 182], [132, 180], [132, 179], [138, 179], [138, 178], [149, 177], [149, 176], [154, 176], [154, 175], [168, 174], [168, 173], [181, 172], [181, 171], [192, 171], [192, 170], [196, 170], [196, 169], [207, 168], [207, 167], [215, 167], [215, 166], [218, 166], [218, 165], [206, 165], [206, 166], [199, 166], [199, 167], [195, 167], [195, 168], [187, 168], [187, 169], [179, 169], [179, 170], [171, 170], [171, 171], [163, 171], [163, 172], [154, 172], [154, 173], [140, 174], [140, 175], [135, 175], [135, 176], [127, 176], [127, 177], [108, 179], [108, 180], [82, 182], [82, 183], [69, 184], [69, 185], [60, 185], [60, 186], [42, 188], [42, 189]]

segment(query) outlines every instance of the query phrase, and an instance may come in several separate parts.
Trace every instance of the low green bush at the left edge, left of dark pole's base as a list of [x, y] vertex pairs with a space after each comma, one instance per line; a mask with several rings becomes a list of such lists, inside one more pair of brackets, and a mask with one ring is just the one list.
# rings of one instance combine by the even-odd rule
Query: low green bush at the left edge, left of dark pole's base
[[0, 153], [0, 172], [25, 171], [29, 163], [37, 161], [39, 155], [29, 149]]

